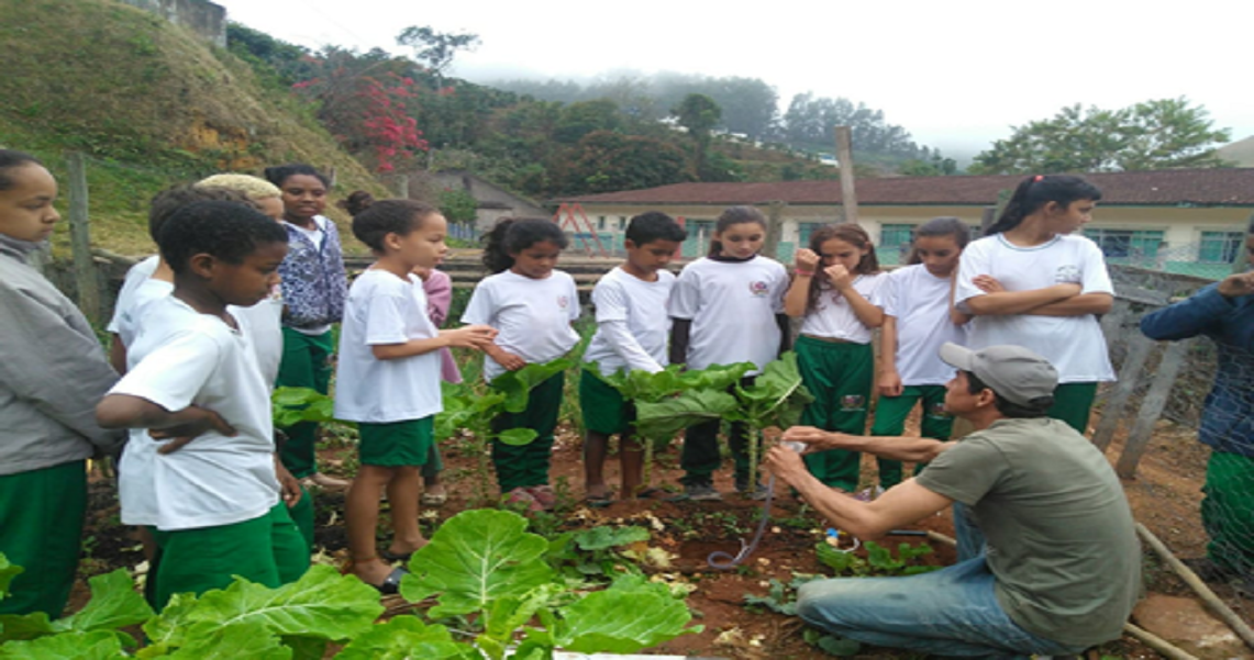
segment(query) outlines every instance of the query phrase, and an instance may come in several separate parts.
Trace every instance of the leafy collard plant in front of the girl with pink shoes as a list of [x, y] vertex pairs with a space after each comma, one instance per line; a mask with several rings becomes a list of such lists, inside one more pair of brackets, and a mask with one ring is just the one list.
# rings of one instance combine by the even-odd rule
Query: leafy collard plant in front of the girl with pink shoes
[[475, 442], [478, 457], [479, 500], [488, 501], [492, 488], [492, 475], [488, 467], [488, 450], [493, 440], [505, 445], [528, 445], [535, 440], [530, 428], [507, 428], [497, 432], [493, 420], [505, 412], [523, 412], [530, 398], [532, 389], [544, 381], [574, 367], [569, 358], [544, 363], [532, 363], [518, 371], [507, 371], [498, 376], [487, 391], [479, 391], [470, 383], [443, 383], [444, 412], [435, 416], [436, 442], [453, 437], [458, 430], [468, 430]]

